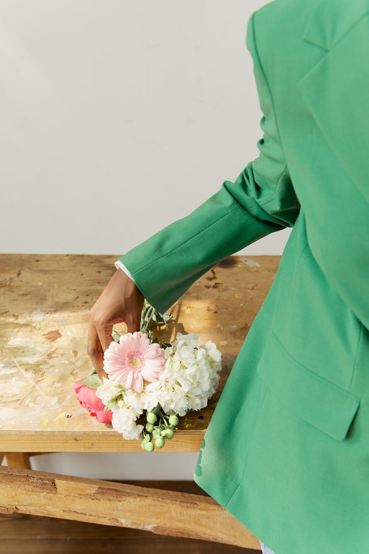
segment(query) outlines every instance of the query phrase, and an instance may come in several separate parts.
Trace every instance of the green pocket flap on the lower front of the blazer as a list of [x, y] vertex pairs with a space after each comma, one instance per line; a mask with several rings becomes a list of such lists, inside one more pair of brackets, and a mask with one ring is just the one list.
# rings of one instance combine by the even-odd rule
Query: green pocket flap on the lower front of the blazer
[[257, 373], [296, 416], [336, 440], [346, 437], [360, 398], [294, 360], [273, 331]]

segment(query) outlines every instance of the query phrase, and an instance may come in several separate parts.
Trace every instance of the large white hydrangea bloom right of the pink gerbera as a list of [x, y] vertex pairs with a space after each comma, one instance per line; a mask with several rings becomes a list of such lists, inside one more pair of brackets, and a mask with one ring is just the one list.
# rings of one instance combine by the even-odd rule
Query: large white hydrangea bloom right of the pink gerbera
[[198, 346], [199, 335], [178, 332], [172, 345], [164, 350], [165, 365], [158, 381], [146, 391], [156, 392], [164, 412], [170, 409], [185, 416], [188, 410], [207, 406], [215, 393], [221, 370], [221, 353], [212, 341]]

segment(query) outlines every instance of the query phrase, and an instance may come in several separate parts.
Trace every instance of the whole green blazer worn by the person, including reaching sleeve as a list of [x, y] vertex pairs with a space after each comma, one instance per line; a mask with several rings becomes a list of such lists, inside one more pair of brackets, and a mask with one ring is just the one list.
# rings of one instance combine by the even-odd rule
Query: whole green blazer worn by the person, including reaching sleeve
[[292, 227], [194, 480], [276, 554], [369, 552], [369, 1], [275, 0], [246, 37], [259, 156], [119, 259], [163, 312]]

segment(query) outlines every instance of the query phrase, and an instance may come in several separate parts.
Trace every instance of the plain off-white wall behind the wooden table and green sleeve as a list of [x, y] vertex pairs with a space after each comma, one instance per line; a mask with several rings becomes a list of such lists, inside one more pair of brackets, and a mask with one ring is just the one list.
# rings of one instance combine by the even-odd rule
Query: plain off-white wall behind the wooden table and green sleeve
[[[265, 3], [1, 0], [0, 252], [120, 256], [234, 181], [262, 136], [246, 25]], [[240, 253], [282, 254], [290, 230]], [[145, 476], [191, 479], [197, 456]], [[146, 461], [32, 466], [134, 479]]]

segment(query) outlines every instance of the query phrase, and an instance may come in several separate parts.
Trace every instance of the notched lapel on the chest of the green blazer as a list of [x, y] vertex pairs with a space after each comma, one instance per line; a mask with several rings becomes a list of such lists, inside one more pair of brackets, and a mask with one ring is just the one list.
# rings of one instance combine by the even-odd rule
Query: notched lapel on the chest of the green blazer
[[298, 90], [342, 168], [369, 202], [369, 2], [320, 0], [303, 40], [323, 55]]

